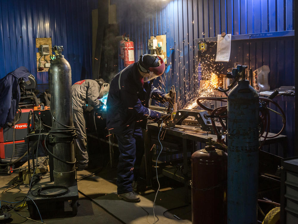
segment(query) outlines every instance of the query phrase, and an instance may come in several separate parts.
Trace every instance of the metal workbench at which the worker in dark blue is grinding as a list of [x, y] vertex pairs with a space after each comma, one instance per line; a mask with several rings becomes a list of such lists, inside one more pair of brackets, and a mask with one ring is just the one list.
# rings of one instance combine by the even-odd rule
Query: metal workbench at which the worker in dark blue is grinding
[[[148, 124], [148, 130], [144, 131], [144, 142], [145, 142], [145, 169], [146, 169], [146, 179], [147, 184], [150, 185], [152, 180], [156, 178], [155, 167], [156, 160], [152, 159], [154, 146], [160, 146], [158, 141], [158, 133], [160, 127], [156, 123]], [[176, 125], [174, 128], [163, 128], [161, 129], [161, 143], [163, 146], [164, 153], [161, 154], [162, 157], [169, 157], [170, 155], [180, 154], [182, 157], [178, 159], [180, 164], [183, 164], [183, 169], [175, 167], [173, 162], [164, 161], [161, 162], [160, 158], [157, 165], [158, 174], [170, 177], [177, 181], [183, 182], [185, 187], [185, 200], [188, 201], [188, 186], [189, 180], [191, 179], [190, 172], [188, 169], [190, 167], [189, 159], [191, 154], [196, 150], [205, 147], [207, 138], [211, 137], [213, 141], [216, 141], [217, 136], [210, 134], [210, 132], [202, 131], [200, 127], [188, 126], [188, 125]], [[268, 136], [274, 136], [273, 133], [268, 133]], [[279, 135], [272, 139], [266, 139], [263, 145], [268, 145], [272, 143], [278, 143], [279, 147], [284, 150], [284, 145], [286, 143], [286, 136]], [[261, 138], [260, 142], [264, 139]], [[197, 143], [200, 144], [197, 144]], [[156, 147], [157, 148], [157, 147]], [[171, 150], [168, 150], [171, 149]], [[157, 151], [159, 152], [159, 147]], [[264, 152], [265, 153], [265, 152]], [[156, 155], [157, 157], [157, 155]], [[177, 159], [173, 159], [173, 161]], [[278, 159], [277, 159], [278, 160]]]

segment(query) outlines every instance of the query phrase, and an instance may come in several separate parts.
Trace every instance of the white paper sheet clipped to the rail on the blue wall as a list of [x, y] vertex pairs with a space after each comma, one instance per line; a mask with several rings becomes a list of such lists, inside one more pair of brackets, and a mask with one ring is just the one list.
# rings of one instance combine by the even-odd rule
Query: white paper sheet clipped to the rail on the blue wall
[[231, 53], [231, 34], [217, 35], [217, 52], [215, 62], [228, 62]]

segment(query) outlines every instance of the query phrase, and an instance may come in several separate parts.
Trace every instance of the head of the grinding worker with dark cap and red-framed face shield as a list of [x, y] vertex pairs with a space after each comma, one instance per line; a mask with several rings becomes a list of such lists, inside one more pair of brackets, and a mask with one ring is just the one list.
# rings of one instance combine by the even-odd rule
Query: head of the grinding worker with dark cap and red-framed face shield
[[147, 73], [143, 76], [144, 82], [149, 82], [164, 73], [164, 61], [159, 56], [144, 54], [140, 56], [138, 68], [141, 72]]

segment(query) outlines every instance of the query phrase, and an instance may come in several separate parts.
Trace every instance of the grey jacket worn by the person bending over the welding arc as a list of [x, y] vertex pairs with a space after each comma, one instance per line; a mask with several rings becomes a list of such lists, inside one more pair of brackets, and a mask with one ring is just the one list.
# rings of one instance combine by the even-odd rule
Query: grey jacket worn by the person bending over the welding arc
[[100, 107], [100, 85], [93, 79], [85, 79], [72, 85], [72, 108], [83, 112], [86, 104], [96, 108]]

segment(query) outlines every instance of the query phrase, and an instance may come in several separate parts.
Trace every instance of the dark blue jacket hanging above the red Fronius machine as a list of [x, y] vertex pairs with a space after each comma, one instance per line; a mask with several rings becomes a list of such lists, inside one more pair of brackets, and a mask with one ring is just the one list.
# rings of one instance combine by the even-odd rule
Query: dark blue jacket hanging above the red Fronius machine
[[0, 127], [12, 125], [21, 97], [19, 83], [28, 81], [29, 75], [29, 70], [21, 66], [0, 79]]

